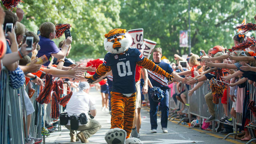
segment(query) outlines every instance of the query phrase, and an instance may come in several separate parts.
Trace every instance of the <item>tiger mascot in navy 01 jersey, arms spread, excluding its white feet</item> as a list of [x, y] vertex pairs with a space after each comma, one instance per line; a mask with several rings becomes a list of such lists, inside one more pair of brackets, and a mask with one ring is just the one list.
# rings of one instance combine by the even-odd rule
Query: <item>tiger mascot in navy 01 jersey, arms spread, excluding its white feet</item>
[[[137, 48], [130, 47], [132, 37], [125, 29], [116, 28], [105, 34], [104, 47], [108, 53], [103, 63], [98, 66], [96, 73], [85, 76], [92, 83], [112, 70], [113, 85], [111, 92], [111, 129], [121, 128], [126, 131], [126, 139], [132, 131], [136, 88], [135, 66], [142, 66], [165, 76], [169, 81], [174, 78], [171, 74], [145, 58]], [[118, 143], [115, 143], [118, 144]]]

